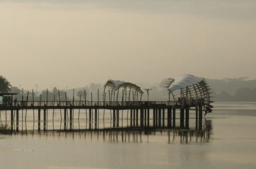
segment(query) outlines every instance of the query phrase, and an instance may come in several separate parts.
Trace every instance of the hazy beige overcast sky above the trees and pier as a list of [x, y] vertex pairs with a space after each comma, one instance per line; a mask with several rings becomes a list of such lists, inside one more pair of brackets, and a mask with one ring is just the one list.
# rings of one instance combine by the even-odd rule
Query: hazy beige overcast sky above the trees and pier
[[0, 75], [25, 89], [256, 78], [255, 30], [255, 0], [0, 1]]

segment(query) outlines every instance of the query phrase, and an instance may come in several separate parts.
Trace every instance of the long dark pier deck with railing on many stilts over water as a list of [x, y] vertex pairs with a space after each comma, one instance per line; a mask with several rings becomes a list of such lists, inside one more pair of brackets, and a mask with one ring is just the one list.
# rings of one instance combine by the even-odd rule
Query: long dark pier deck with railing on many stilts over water
[[[200, 103], [198, 100], [195, 103]], [[189, 103], [184, 101], [184, 103]], [[27, 114], [33, 113], [33, 121], [37, 121], [38, 131], [43, 127], [47, 130], [48, 110], [60, 111], [61, 121], [63, 119], [64, 130], [73, 129], [74, 117], [79, 120], [80, 114], [86, 113], [86, 121], [88, 121], [89, 129], [97, 129], [99, 119], [106, 118], [105, 114], [110, 113], [113, 128], [120, 127], [120, 121], [129, 121], [129, 127], [132, 128], [183, 128], [189, 129], [190, 111], [195, 112], [196, 128], [202, 128], [203, 108], [201, 105], [189, 103], [188, 105], [181, 102], [173, 101], [17, 101], [13, 105], [1, 106], [0, 110], [4, 110], [10, 114], [10, 129], [19, 131], [20, 111], [22, 111], [21, 121], [27, 120]], [[33, 111], [28, 111], [33, 110]], [[120, 117], [120, 112], [127, 112], [127, 117]], [[74, 115], [76, 113], [76, 115]], [[88, 115], [87, 115], [88, 113]], [[37, 115], [35, 115], [37, 114]], [[177, 115], [179, 114], [179, 115]], [[37, 116], [37, 119], [35, 117]], [[178, 127], [177, 116], [179, 116]], [[15, 117], [15, 118], [14, 118]], [[54, 121], [54, 115], [51, 117]], [[194, 119], [194, 117], [193, 117]], [[69, 125], [67, 124], [69, 122]], [[67, 127], [69, 126], [69, 128]]]

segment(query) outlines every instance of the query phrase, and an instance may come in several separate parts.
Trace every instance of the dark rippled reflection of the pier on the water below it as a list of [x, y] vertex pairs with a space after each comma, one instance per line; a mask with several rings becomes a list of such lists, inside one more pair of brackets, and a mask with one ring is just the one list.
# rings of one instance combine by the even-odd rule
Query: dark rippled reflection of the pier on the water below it
[[[202, 129], [170, 129], [170, 128], [104, 128], [104, 129], [74, 129], [42, 131], [10, 131], [13, 135], [32, 135], [52, 138], [68, 138], [72, 140], [91, 140], [93, 142], [168, 142], [168, 143], [193, 143], [209, 142], [211, 121], [203, 121]], [[1, 132], [1, 131], [0, 131]], [[5, 133], [6, 134], [6, 133]]]

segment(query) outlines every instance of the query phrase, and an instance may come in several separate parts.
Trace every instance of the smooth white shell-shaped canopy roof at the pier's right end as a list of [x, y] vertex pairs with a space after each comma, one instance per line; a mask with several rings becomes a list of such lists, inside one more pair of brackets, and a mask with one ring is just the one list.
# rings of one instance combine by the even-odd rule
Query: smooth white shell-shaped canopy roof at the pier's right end
[[174, 82], [172, 82], [168, 88], [170, 92], [197, 84], [204, 80], [203, 78], [195, 77], [194, 75], [181, 75], [179, 77], [173, 77], [172, 79]]

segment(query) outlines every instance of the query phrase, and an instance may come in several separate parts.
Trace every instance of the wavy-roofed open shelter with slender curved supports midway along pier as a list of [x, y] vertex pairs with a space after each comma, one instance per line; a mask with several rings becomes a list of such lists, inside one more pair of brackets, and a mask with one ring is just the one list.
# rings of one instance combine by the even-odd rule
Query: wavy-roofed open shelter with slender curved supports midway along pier
[[[109, 91], [111, 91], [111, 94], [109, 92], [109, 101], [112, 103], [115, 103], [115, 101], [117, 103], [118, 96], [120, 94], [119, 92], [120, 89], [122, 89], [122, 101], [138, 101], [139, 95], [140, 95], [140, 101], [141, 101], [142, 94], [143, 94], [143, 91], [141, 91], [141, 88], [138, 87], [138, 85], [132, 84], [130, 82], [109, 79], [108, 82], [106, 82], [106, 84], [104, 85], [104, 92], [103, 92], [104, 101], [106, 101], [105, 93], [107, 88], [109, 88]], [[131, 93], [132, 93], [132, 100], [131, 100]]]

